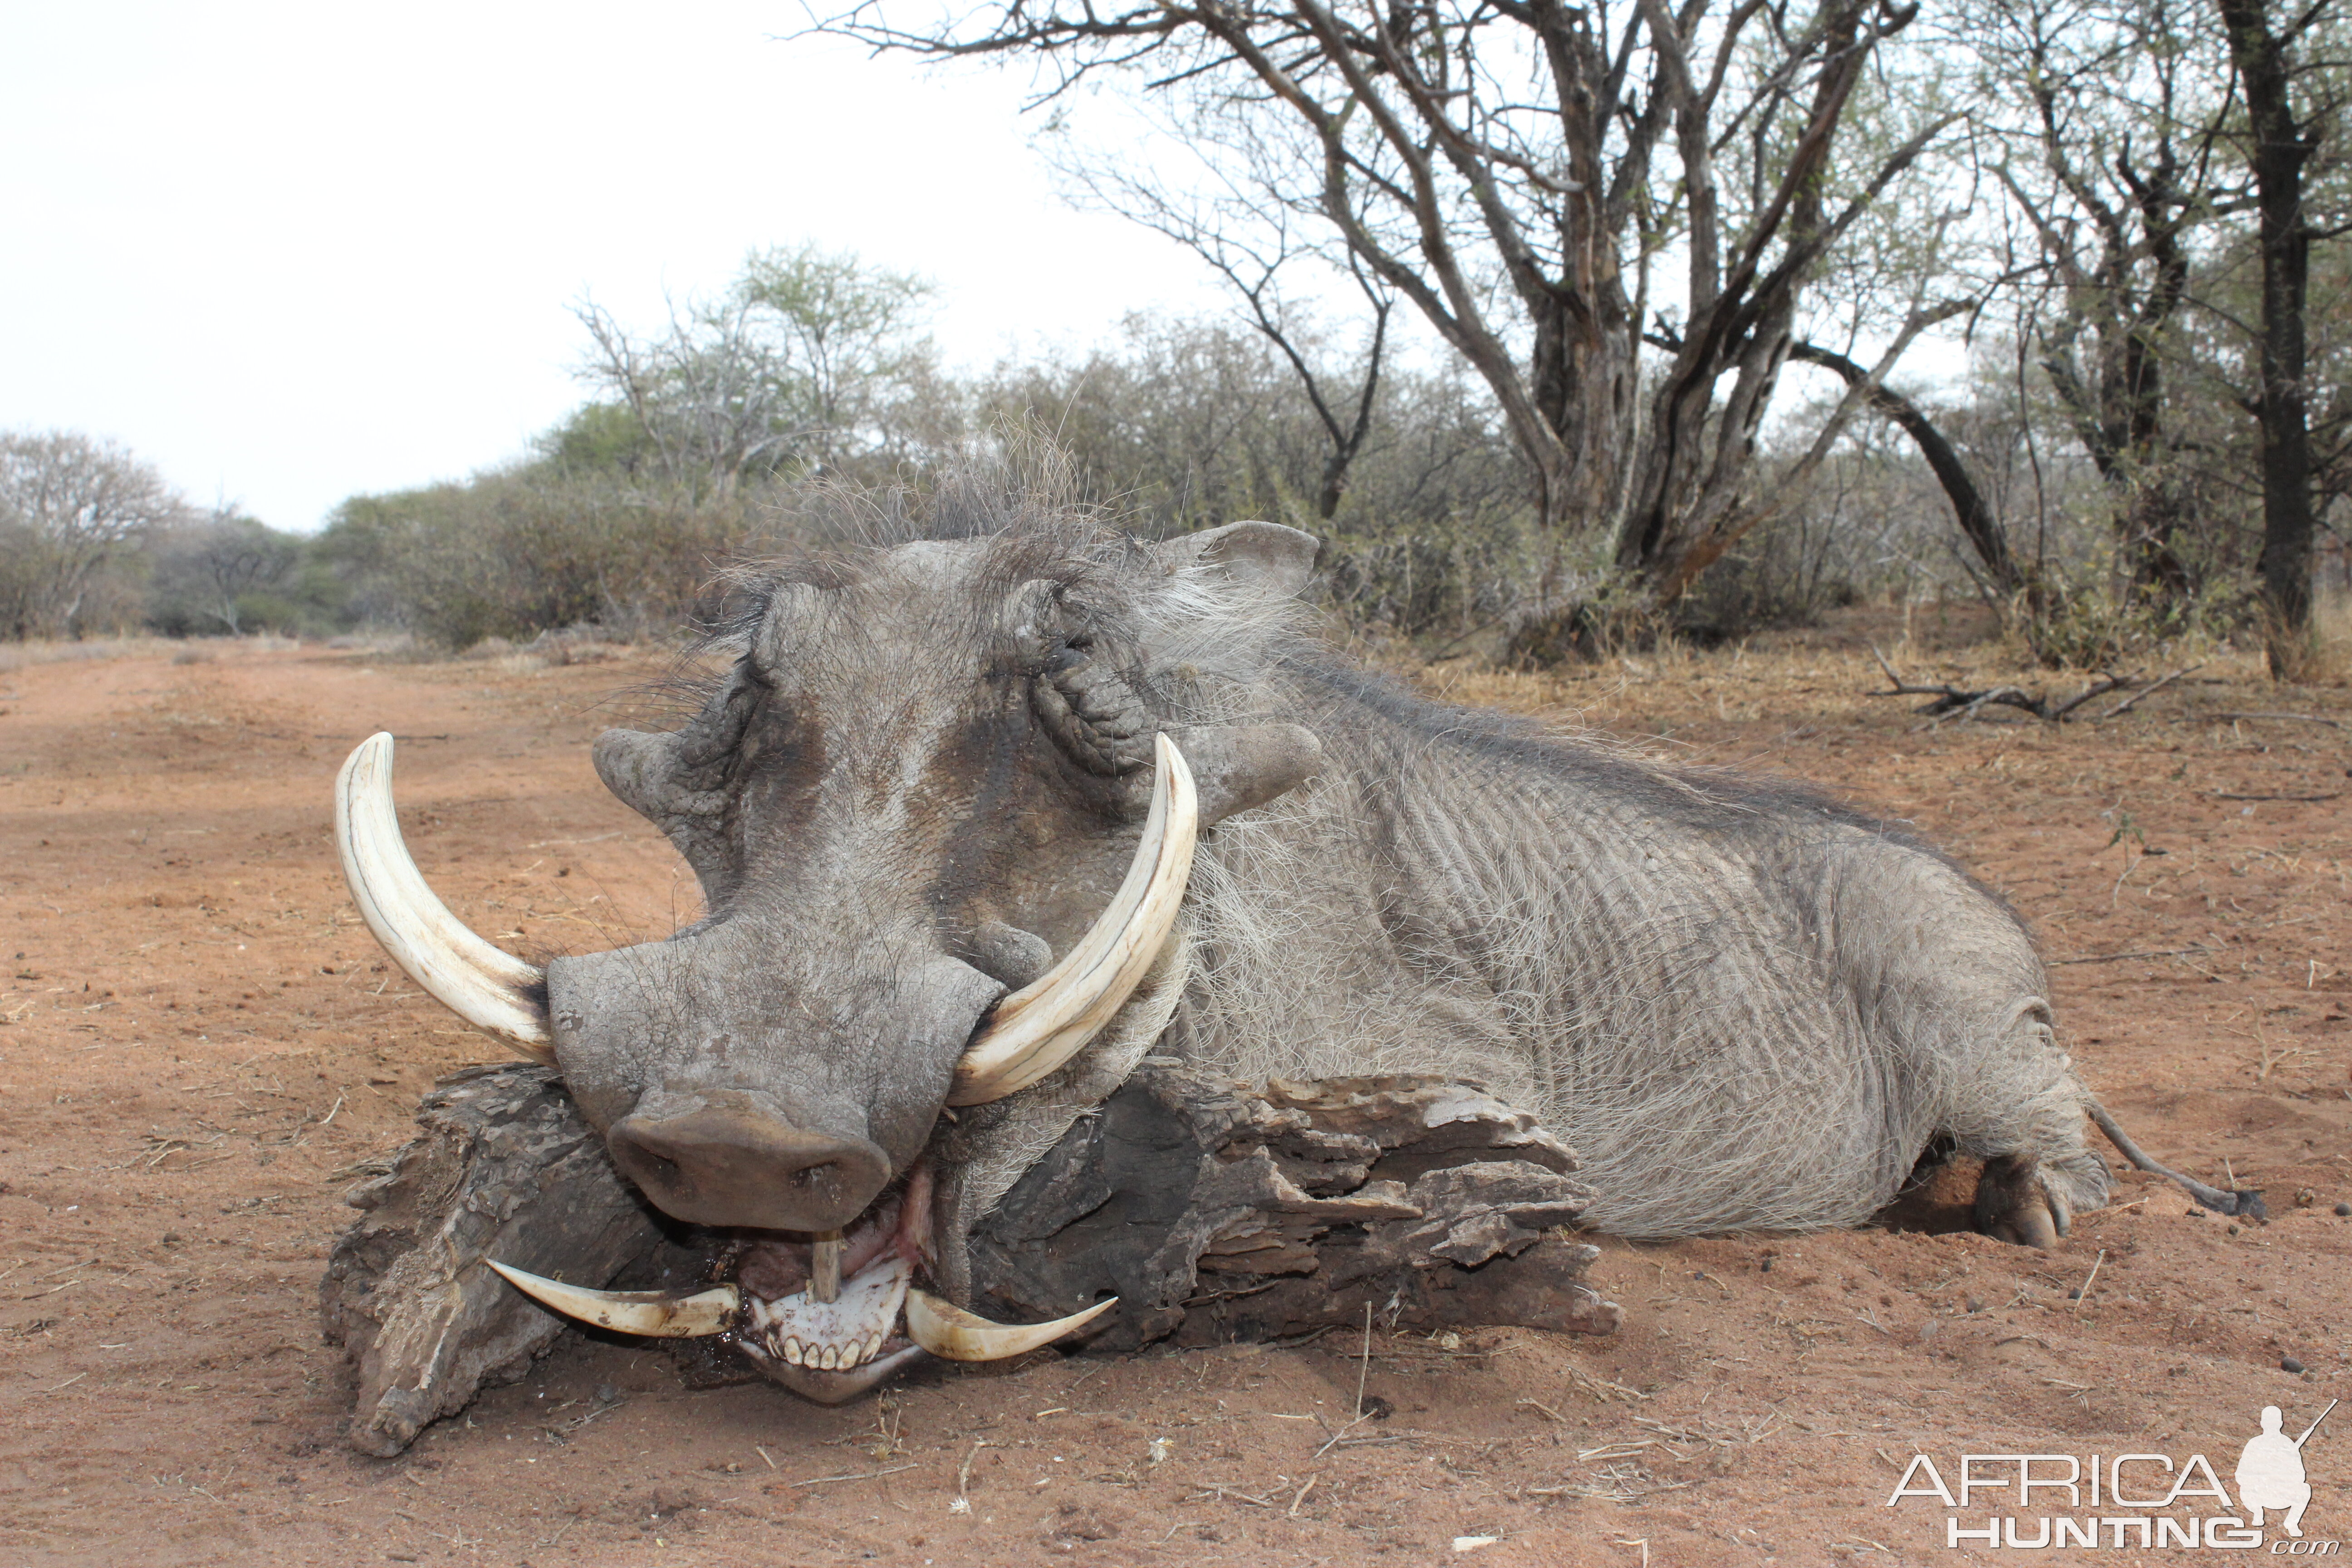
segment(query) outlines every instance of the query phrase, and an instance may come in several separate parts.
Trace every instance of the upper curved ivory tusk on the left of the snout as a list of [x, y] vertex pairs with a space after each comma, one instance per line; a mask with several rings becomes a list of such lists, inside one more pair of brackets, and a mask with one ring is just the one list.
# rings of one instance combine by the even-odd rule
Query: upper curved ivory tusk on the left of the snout
[[546, 1013], [532, 999], [539, 969], [468, 931], [409, 858], [393, 811], [393, 738], [386, 733], [360, 741], [336, 773], [334, 846], [367, 929], [412, 980], [485, 1034], [536, 1060], [555, 1060]]

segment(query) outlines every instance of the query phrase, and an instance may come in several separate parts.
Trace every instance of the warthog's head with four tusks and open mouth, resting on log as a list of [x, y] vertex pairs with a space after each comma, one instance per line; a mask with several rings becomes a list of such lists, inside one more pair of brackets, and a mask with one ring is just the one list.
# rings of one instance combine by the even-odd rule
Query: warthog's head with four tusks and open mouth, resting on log
[[736, 1284], [684, 1300], [510, 1274], [548, 1305], [734, 1333], [818, 1396], [917, 1354], [884, 1354], [901, 1305], [962, 1359], [1080, 1321], [1007, 1331], [908, 1295], [924, 1147], [943, 1107], [1077, 1056], [1171, 943], [1195, 835], [1317, 766], [1305, 729], [1211, 722], [1235, 684], [1221, 639], [1277, 618], [1315, 541], [988, 522], [779, 569], [701, 712], [595, 743], [701, 882], [703, 919], [668, 940], [546, 971], [499, 952], [400, 846], [390, 738], [346, 764], [346, 875], [393, 957], [553, 1060], [647, 1199], [753, 1232]]

